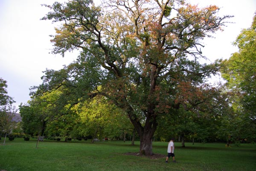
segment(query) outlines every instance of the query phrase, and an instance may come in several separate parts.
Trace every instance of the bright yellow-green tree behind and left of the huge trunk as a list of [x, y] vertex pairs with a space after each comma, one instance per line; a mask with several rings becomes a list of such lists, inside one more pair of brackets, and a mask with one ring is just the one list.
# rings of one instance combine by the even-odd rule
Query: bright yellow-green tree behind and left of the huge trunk
[[75, 107], [81, 121], [81, 134], [91, 135], [94, 138], [119, 137], [129, 132], [132, 125], [124, 111], [108, 103], [105, 97], [96, 97]]

